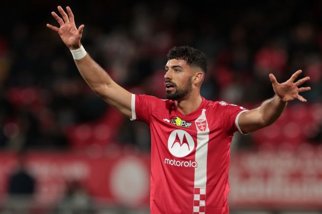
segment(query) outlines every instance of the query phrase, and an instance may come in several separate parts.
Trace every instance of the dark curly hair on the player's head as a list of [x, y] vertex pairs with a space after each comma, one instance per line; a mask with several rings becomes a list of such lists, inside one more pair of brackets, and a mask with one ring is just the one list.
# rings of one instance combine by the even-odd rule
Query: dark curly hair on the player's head
[[207, 73], [208, 65], [205, 54], [193, 47], [174, 46], [169, 50], [167, 59], [185, 60], [189, 66], [199, 67], [204, 74]]

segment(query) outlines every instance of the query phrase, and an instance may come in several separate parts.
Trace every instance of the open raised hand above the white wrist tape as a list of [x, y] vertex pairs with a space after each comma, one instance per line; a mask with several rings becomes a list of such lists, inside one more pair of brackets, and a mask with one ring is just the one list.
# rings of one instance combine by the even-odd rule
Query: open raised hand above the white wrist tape
[[84, 24], [80, 25], [79, 28], [76, 28], [74, 21], [74, 14], [70, 7], [66, 7], [68, 15], [58, 6], [58, 11], [60, 12], [61, 17], [59, 17], [55, 12], [52, 12], [53, 17], [58, 21], [60, 27], [57, 28], [51, 24], [47, 24], [47, 27], [53, 31], [58, 32], [61, 40], [65, 45], [70, 49], [77, 49], [81, 46], [82, 32], [84, 29]]

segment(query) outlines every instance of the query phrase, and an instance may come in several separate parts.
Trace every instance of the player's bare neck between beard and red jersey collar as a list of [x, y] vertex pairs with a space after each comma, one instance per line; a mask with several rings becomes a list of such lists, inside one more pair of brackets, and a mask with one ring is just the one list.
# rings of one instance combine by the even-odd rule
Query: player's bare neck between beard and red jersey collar
[[177, 110], [179, 110], [183, 115], [188, 115], [199, 108], [202, 102], [202, 97], [200, 94], [195, 96], [191, 94], [185, 99], [178, 100], [177, 102]]

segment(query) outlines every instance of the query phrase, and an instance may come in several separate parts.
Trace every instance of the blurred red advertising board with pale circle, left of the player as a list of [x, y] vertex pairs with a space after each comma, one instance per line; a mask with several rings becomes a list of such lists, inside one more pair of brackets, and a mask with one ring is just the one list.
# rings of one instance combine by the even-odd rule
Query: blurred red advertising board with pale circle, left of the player
[[[0, 195], [6, 196], [9, 174], [15, 170], [16, 156], [0, 154]], [[108, 154], [74, 152], [30, 152], [26, 166], [37, 181], [36, 201], [54, 204], [66, 185], [80, 181], [97, 200], [124, 206], [149, 204], [149, 155], [113, 151]]]

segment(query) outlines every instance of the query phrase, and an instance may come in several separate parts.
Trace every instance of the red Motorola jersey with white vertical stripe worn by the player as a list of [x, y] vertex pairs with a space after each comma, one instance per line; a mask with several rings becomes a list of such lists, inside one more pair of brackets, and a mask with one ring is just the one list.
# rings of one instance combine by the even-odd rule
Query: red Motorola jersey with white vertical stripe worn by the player
[[132, 120], [151, 131], [151, 214], [228, 213], [228, 168], [243, 107], [202, 98], [183, 115], [172, 100], [132, 94]]

